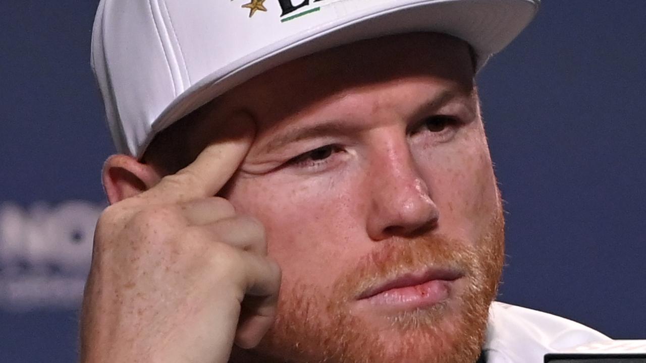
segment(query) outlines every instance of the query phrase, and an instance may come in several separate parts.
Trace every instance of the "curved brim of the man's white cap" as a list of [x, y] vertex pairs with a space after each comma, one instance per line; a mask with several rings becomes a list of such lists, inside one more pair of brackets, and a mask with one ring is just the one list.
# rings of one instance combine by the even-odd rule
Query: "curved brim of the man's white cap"
[[477, 69], [506, 47], [537, 12], [531, 0], [426, 0], [371, 9], [268, 45], [215, 70], [174, 99], [152, 123], [140, 158], [155, 134], [240, 83], [273, 67], [362, 39], [407, 32], [439, 32], [458, 37], [475, 50]]

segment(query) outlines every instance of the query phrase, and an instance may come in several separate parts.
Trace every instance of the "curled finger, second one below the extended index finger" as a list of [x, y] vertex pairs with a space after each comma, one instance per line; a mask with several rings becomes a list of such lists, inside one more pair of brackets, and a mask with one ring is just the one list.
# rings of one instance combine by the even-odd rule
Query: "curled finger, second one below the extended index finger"
[[244, 251], [267, 255], [265, 228], [250, 216], [224, 218], [205, 226], [210, 233], [217, 236], [218, 242], [233, 245]]

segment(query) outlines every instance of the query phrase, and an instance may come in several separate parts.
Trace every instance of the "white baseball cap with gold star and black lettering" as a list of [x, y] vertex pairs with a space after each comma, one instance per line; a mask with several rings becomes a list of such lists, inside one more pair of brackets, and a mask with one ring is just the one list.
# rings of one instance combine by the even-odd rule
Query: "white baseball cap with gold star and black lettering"
[[[389, 34], [469, 43], [477, 69], [540, 0], [101, 0], [92, 68], [118, 152], [140, 158], [178, 119], [292, 59]], [[406, 55], [402, 55], [406, 56]]]

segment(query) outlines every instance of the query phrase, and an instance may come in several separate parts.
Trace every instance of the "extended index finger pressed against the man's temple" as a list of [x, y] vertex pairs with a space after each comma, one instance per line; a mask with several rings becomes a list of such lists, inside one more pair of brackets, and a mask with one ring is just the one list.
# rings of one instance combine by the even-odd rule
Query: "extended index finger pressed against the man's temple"
[[253, 141], [255, 126], [245, 112], [218, 127], [220, 134], [184, 169], [165, 176], [148, 196], [165, 202], [187, 202], [214, 196], [240, 166]]

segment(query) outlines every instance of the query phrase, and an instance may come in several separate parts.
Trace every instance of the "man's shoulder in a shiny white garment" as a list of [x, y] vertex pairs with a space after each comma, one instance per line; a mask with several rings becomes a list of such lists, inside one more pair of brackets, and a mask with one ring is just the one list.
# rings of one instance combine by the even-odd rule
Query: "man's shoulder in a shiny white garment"
[[490, 363], [543, 362], [543, 355], [610, 338], [542, 311], [494, 302], [489, 309], [485, 351]]

